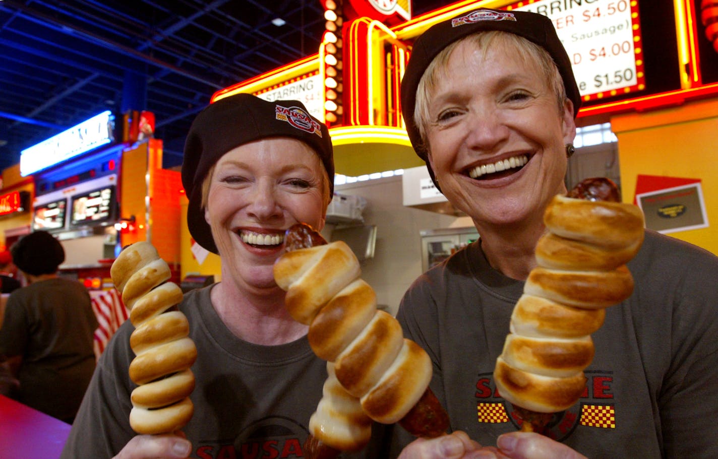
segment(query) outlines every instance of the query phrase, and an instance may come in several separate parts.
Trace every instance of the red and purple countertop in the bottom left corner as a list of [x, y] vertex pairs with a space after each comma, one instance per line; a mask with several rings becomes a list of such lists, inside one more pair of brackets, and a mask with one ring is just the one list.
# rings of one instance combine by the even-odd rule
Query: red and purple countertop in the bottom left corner
[[0, 395], [0, 458], [57, 459], [70, 425]]

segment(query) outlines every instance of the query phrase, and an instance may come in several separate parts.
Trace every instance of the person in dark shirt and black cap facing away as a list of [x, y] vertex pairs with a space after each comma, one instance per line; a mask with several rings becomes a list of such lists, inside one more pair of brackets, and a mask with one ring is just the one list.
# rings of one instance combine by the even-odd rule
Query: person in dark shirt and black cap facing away
[[11, 252], [28, 285], [10, 294], [0, 328], [0, 356], [19, 382], [10, 396], [71, 423], [95, 369], [90, 295], [58, 277], [65, 251], [50, 233], [30, 233]]

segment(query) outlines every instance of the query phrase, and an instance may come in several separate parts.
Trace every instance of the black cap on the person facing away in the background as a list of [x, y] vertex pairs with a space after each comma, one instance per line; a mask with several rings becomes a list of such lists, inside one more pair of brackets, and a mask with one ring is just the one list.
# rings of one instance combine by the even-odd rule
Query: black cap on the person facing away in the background
[[11, 247], [15, 266], [31, 275], [52, 274], [65, 261], [65, 250], [49, 232], [36, 231], [23, 236]]

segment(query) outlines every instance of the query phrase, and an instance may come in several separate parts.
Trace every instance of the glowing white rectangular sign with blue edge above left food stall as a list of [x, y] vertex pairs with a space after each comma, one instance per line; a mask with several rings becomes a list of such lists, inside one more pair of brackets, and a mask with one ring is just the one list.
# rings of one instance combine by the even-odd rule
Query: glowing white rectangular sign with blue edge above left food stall
[[20, 152], [20, 175], [34, 174], [111, 143], [115, 140], [114, 120], [112, 112], [107, 110], [67, 131], [25, 148]]

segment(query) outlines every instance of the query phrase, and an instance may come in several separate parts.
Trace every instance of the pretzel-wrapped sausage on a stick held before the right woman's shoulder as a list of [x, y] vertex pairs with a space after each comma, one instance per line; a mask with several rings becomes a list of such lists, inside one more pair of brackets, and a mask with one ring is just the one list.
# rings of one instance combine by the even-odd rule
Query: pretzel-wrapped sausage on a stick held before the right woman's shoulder
[[541, 432], [551, 413], [578, 401], [594, 355], [591, 333], [602, 326], [605, 308], [633, 292], [625, 263], [643, 242], [643, 214], [618, 201], [612, 181], [587, 179], [554, 197], [544, 213], [538, 266], [514, 307], [494, 371], [522, 430]]

